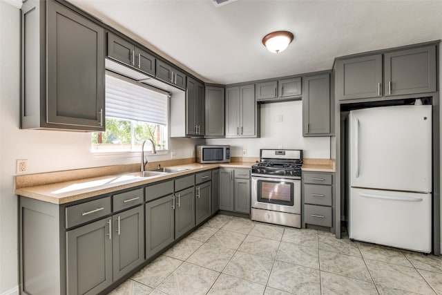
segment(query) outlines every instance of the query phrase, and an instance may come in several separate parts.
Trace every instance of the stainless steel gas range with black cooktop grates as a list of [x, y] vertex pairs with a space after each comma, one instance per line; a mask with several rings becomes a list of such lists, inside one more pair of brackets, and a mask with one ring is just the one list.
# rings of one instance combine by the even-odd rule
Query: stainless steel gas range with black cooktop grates
[[302, 150], [261, 149], [251, 167], [251, 220], [301, 227]]

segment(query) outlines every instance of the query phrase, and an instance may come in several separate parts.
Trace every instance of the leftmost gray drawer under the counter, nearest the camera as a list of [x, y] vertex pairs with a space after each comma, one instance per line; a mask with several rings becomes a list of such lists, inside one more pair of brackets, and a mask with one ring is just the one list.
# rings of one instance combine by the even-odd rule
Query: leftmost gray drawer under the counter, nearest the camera
[[111, 211], [111, 197], [66, 207], [66, 229], [106, 216]]

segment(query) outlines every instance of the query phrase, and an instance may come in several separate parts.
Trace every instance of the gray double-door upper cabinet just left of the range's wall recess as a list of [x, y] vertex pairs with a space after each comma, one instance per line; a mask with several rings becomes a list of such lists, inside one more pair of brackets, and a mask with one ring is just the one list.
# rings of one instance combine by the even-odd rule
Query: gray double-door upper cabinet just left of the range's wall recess
[[226, 88], [226, 137], [259, 137], [255, 86]]

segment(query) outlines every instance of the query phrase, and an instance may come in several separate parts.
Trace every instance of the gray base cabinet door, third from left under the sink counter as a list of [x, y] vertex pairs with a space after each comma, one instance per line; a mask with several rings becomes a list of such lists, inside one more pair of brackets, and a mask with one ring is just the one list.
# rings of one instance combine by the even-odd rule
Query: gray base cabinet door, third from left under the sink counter
[[173, 242], [173, 195], [146, 203], [146, 259]]

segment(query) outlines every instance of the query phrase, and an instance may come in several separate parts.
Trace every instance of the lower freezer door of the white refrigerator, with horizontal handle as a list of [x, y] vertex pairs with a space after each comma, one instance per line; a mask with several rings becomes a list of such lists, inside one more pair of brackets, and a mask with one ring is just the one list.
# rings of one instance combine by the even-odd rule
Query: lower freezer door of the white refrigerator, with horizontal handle
[[430, 193], [350, 189], [349, 238], [431, 252]]

